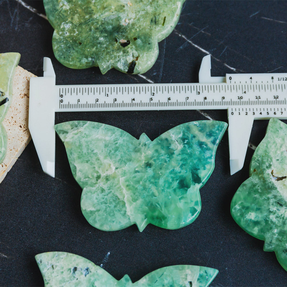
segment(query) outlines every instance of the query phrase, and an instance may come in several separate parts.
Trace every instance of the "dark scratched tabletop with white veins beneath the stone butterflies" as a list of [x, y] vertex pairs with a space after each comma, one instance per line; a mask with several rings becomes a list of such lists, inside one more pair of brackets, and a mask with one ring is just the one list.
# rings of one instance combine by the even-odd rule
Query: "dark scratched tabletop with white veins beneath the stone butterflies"
[[[29, 7], [36, 11], [31, 11]], [[72, 70], [52, 50], [53, 28], [42, 1], [0, 1], [0, 53], [19, 52], [19, 65], [42, 76], [43, 57], [50, 57], [56, 84], [198, 82], [201, 59], [212, 55], [212, 75], [248, 72], [287, 73], [287, 2], [187, 1], [175, 30], [159, 43], [159, 56], [144, 74], [126, 75], [96, 67]], [[227, 121], [225, 110], [205, 111]], [[56, 123], [92, 120], [114, 125], [139, 137], [155, 139], [168, 129], [206, 117], [192, 111], [59, 113]], [[257, 146], [267, 121], [255, 121], [250, 141]], [[86, 257], [116, 279], [133, 282], [168, 265], [217, 268], [211, 286], [286, 286], [287, 273], [263, 241], [244, 232], [230, 215], [230, 201], [248, 178], [253, 154], [248, 148], [244, 168], [230, 176], [227, 133], [216, 154], [213, 174], [201, 188], [202, 210], [189, 226], [165, 230], [148, 225], [103, 232], [88, 224], [80, 209], [81, 189], [72, 177], [65, 148], [56, 139], [56, 177], [42, 172], [31, 141], [0, 184], [0, 285], [43, 286], [34, 260], [38, 253], [66, 251]]]

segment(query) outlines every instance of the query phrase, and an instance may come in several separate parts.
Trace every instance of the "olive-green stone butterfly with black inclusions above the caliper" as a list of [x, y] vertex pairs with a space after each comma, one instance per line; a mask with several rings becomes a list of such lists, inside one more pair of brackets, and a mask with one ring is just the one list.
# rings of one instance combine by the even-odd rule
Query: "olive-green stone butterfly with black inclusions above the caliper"
[[145, 73], [174, 29], [183, 0], [44, 0], [53, 50], [73, 69]]

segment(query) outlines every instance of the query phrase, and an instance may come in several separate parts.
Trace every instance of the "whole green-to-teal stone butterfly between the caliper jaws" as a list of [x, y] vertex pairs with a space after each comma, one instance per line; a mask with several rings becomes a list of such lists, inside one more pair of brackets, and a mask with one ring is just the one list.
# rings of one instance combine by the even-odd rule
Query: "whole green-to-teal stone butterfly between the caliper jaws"
[[199, 189], [214, 169], [216, 148], [227, 124], [198, 121], [179, 125], [154, 141], [138, 139], [101, 123], [55, 125], [70, 167], [82, 187], [88, 222], [105, 231], [152, 223], [186, 226], [201, 209]]

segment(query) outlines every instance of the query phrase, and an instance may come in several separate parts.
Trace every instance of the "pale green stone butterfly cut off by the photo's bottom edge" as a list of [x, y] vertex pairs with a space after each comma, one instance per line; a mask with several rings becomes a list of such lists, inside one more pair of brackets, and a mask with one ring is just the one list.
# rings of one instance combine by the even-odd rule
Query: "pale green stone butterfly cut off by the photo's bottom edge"
[[35, 256], [45, 287], [207, 287], [218, 270], [194, 265], [174, 265], [157, 269], [132, 283], [128, 275], [116, 280], [90, 260], [66, 252], [47, 252]]

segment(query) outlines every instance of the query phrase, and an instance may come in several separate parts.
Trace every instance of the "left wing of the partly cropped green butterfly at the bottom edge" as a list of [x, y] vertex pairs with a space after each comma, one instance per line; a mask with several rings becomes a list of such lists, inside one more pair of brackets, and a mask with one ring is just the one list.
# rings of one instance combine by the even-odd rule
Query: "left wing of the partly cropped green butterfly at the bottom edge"
[[35, 256], [45, 287], [116, 286], [117, 280], [90, 260], [67, 252], [46, 252]]

